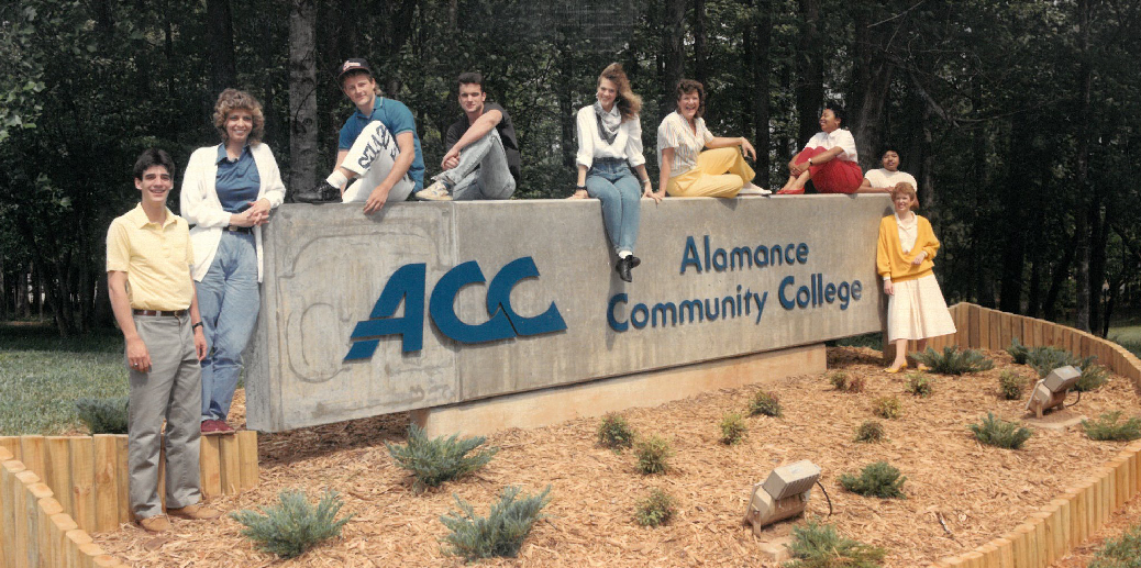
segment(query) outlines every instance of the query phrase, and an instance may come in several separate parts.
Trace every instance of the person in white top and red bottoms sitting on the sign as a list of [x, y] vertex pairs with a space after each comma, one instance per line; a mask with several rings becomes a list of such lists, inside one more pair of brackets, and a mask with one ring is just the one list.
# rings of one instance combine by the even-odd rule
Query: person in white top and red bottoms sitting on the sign
[[856, 155], [856, 139], [843, 128], [843, 108], [828, 105], [820, 113], [820, 132], [788, 162], [788, 181], [778, 195], [804, 193], [809, 179], [820, 193], [856, 193], [864, 180]]

